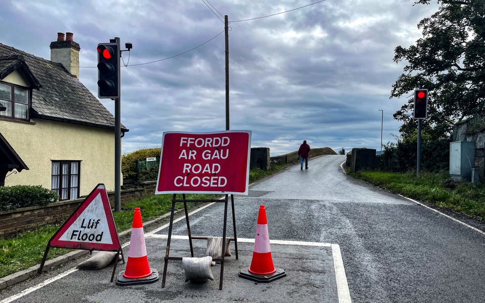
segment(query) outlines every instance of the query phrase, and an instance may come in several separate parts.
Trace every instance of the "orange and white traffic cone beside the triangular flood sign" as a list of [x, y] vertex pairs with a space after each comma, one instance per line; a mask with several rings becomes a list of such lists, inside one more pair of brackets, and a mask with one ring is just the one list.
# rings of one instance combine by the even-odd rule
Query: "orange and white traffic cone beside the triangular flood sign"
[[130, 250], [125, 271], [121, 272], [116, 285], [152, 283], [158, 280], [158, 272], [148, 264], [147, 247], [141, 222], [140, 208], [135, 208], [131, 225]]

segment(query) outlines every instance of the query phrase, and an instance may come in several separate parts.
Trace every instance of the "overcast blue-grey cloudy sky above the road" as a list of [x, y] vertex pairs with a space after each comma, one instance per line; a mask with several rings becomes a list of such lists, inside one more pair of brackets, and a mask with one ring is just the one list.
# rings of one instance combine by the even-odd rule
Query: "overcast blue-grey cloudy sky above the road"
[[[316, 0], [210, 0], [229, 21], [295, 9]], [[389, 99], [403, 64], [397, 45], [421, 36], [417, 23], [438, 10], [413, 0], [327, 0], [306, 8], [230, 24], [230, 128], [253, 131], [253, 147], [272, 156], [312, 147], [380, 149], [395, 142], [393, 114], [406, 98]], [[50, 59], [57, 32], [74, 33], [80, 65], [95, 67], [96, 45], [132, 42], [129, 65], [185, 52], [224, 24], [195, 1], [2, 1], [0, 42]], [[219, 16], [220, 17], [220, 16]], [[223, 20], [223, 18], [221, 17]], [[127, 63], [128, 52], [123, 53]], [[123, 153], [160, 147], [164, 131], [225, 129], [224, 34], [173, 59], [121, 69]], [[80, 81], [98, 95], [98, 71]], [[102, 103], [114, 113], [113, 101]]]

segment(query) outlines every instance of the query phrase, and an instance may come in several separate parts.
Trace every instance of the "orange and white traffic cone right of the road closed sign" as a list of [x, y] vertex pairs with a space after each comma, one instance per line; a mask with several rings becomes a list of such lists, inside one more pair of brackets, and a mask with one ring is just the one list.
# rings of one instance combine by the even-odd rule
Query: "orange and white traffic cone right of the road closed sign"
[[254, 239], [253, 260], [248, 270], [239, 271], [239, 277], [257, 282], [271, 282], [285, 277], [283, 269], [276, 269], [271, 257], [269, 245], [268, 223], [266, 221], [266, 209], [259, 206], [258, 225]]

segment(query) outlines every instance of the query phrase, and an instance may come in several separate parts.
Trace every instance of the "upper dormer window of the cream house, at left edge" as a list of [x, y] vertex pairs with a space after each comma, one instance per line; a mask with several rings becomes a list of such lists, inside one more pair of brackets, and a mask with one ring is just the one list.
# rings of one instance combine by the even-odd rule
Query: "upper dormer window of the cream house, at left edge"
[[7, 108], [0, 112], [0, 117], [28, 120], [30, 89], [0, 82], [0, 105]]

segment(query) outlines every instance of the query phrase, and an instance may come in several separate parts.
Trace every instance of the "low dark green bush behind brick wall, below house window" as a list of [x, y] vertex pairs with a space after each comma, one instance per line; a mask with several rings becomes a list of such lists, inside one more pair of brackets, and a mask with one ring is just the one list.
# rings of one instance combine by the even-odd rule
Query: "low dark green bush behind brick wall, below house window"
[[21, 207], [47, 205], [59, 200], [59, 195], [40, 185], [0, 186], [0, 211]]

